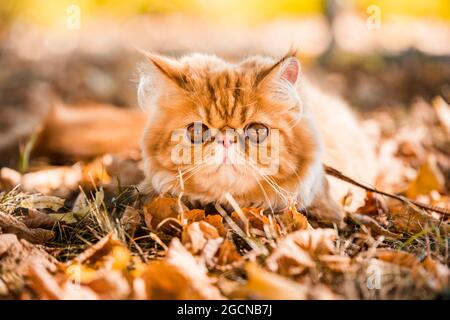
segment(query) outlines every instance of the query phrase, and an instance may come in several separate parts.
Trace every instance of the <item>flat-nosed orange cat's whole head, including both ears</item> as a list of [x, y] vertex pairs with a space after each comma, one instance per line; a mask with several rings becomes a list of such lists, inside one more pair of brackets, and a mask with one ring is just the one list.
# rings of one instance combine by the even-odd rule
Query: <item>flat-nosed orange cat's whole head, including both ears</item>
[[143, 152], [156, 191], [183, 189], [212, 201], [226, 191], [270, 193], [304, 175], [317, 146], [295, 57], [149, 58], [139, 99], [149, 116]]

